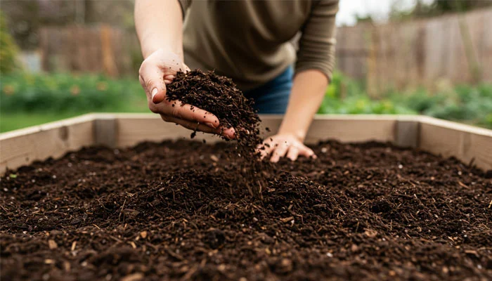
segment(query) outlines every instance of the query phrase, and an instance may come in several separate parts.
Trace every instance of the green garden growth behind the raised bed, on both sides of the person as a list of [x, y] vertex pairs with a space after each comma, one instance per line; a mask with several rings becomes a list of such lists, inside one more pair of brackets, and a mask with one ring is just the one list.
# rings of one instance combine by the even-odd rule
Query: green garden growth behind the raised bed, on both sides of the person
[[[88, 112], [149, 110], [137, 79], [22, 72], [0, 76], [0, 131]], [[492, 84], [461, 85], [436, 93], [390, 92], [373, 100], [363, 84], [335, 72], [318, 113], [423, 114], [492, 128]]]

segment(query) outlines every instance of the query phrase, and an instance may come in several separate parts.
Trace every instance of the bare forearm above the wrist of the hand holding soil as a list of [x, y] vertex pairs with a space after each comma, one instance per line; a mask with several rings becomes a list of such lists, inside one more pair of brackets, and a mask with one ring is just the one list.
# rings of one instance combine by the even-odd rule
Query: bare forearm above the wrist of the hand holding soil
[[163, 48], [183, 60], [183, 15], [177, 0], [136, 0], [135, 26], [143, 58]]

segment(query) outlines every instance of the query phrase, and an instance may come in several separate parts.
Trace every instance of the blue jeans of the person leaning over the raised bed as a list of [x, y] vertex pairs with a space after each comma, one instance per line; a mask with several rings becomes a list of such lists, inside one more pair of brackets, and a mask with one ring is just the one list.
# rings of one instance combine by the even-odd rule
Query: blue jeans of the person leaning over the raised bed
[[245, 91], [247, 98], [254, 99], [254, 109], [260, 114], [284, 114], [292, 89], [294, 67], [287, 67], [278, 77], [265, 84]]

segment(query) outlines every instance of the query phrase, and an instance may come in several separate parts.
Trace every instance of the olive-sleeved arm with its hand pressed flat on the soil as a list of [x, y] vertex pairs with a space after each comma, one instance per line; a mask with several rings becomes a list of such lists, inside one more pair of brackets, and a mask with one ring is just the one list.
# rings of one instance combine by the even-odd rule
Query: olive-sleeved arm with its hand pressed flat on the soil
[[313, 7], [304, 25], [297, 53], [296, 75], [289, 105], [276, 136], [267, 138], [265, 157], [278, 162], [287, 156], [294, 161], [299, 155], [316, 157], [303, 144], [314, 115], [321, 105], [335, 65], [335, 15], [337, 0], [321, 0]]

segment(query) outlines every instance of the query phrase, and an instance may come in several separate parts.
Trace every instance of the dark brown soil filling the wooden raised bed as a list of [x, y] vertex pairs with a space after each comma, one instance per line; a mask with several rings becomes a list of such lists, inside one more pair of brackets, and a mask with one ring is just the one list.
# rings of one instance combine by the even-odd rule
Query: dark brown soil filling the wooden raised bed
[[482, 171], [330, 141], [252, 196], [233, 145], [85, 148], [8, 171], [1, 280], [492, 279]]

